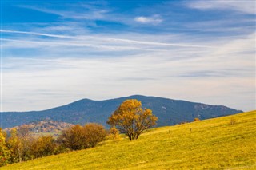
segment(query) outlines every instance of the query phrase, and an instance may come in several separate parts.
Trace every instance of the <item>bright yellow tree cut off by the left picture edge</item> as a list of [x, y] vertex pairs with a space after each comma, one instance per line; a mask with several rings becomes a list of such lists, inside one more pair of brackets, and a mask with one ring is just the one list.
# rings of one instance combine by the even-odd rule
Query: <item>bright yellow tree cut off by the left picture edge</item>
[[0, 128], [0, 167], [8, 164], [10, 159], [10, 151], [6, 147], [6, 135], [2, 132]]

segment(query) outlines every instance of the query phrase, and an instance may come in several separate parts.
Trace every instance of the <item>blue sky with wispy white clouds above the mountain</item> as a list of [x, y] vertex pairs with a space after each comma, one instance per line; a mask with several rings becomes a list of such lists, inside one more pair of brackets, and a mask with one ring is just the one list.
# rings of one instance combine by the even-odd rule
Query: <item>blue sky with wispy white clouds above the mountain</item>
[[1, 111], [134, 94], [255, 109], [255, 1], [2, 0]]

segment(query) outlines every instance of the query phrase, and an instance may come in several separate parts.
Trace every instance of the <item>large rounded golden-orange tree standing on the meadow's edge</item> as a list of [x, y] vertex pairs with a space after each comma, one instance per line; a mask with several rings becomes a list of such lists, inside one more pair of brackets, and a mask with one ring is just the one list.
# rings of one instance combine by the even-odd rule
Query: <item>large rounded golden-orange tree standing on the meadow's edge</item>
[[141, 101], [130, 99], [122, 102], [109, 117], [107, 124], [124, 132], [129, 140], [136, 140], [146, 129], [154, 126], [158, 117], [150, 109], [142, 109]]

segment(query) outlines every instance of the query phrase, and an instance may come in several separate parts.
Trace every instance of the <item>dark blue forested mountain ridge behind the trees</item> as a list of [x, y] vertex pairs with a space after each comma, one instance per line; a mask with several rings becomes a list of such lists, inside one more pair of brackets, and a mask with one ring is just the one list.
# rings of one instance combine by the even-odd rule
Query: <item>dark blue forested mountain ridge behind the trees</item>
[[97, 122], [106, 126], [106, 121], [110, 117], [110, 114], [126, 99], [142, 101], [142, 107], [151, 109], [154, 115], [158, 117], [157, 126], [175, 125], [184, 121], [193, 121], [195, 117], [204, 120], [211, 117], [242, 113], [241, 110], [230, 109], [222, 105], [206, 105], [162, 97], [134, 95], [106, 101], [82, 99], [68, 105], [42, 111], [2, 112], [2, 128], [10, 128], [43, 119], [81, 125], [87, 122]]

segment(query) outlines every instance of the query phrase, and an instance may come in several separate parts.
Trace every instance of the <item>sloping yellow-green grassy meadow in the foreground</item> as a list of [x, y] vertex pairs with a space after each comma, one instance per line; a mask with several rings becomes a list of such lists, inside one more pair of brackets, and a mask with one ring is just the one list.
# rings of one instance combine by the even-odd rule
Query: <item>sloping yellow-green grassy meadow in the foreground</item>
[[1, 169], [256, 169], [256, 111], [154, 128], [131, 142], [108, 140]]

